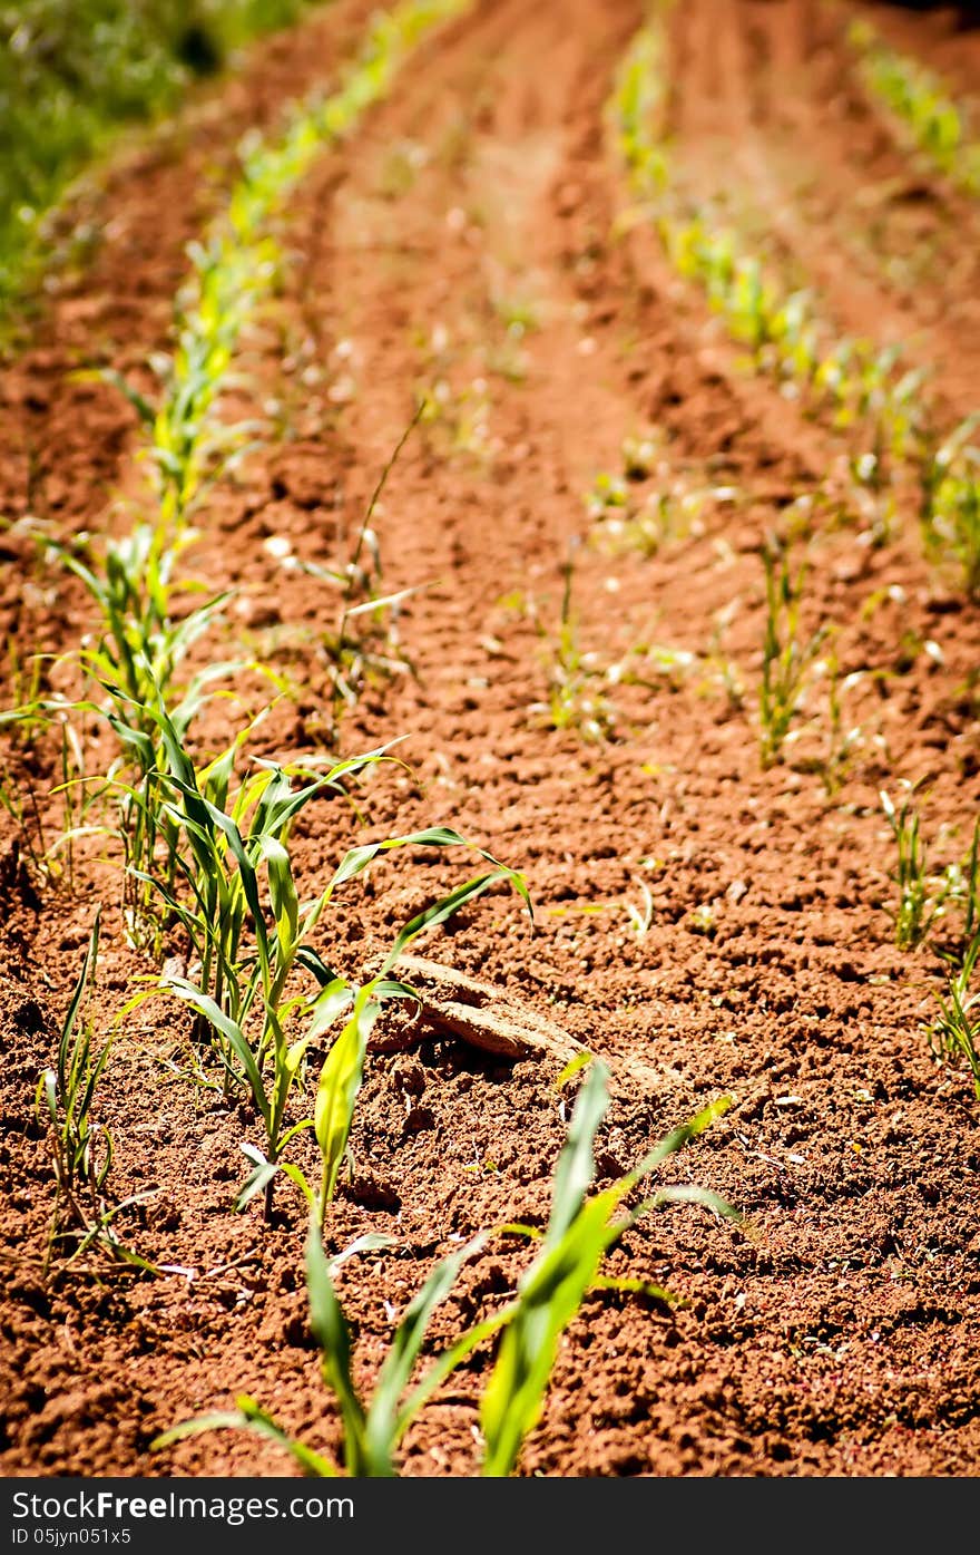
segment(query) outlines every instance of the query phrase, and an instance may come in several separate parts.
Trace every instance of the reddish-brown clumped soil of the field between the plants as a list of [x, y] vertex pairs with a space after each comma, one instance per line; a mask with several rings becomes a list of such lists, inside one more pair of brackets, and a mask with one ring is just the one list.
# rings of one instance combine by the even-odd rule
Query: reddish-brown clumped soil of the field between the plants
[[[329, 79], [368, 11], [351, 0], [264, 45], [248, 75], [109, 179], [104, 241], [62, 277], [3, 373], [9, 518], [34, 513], [65, 536], [126, 521], [116, 499], [140, 491], [132, 420], [107, 389], [68, 373], [107, 361], [134, 370], [166, 344], [183, 244], [219, 204], [242, 128]], [[935, 19], [873, 14], [926, 59], [980, 64], [975, 33], [957, 34], [954, 51]], [[626, 1238], [609, 1272], [666, 1284], [682, 1303], [586, 1302], [522, 1471], [974, 1474], [977, 1104], [923, 1034], [935, 953], [893, 944], [879, 788], [921, 784], [937, 860], [966, 849], [980, 805], [980, 617], [955, 575], [923, 558], [912, 507], [877, 547], [860, 526], [818, 518], [805, 627], [837, 627], [840, 673], [860, 673], [845, 717], [862, 742], [828, 793], [814, 690], [787, 760], [761, 770], [761, 549], [789, 504], [840, 468], [843, 445], [745, 372], [641, 225], [615, 225], [626, 196], [603, 106], [640, 19], [632, 0], [483, 0], [290, 202], [292, 263], [248, 341], [242, 390], [272, 406], [280, 432], [200, 515], [194, 571], [238, 591], [207, 652], [235, 658], [244, 641], [289, 672], [295, 690], [250, 750], [318, 748], [329, 728], [318, 642], [335, 596], [283, 569], [266, 541], [304, 561], [335, 558], [416, 392], [444, 384], [441, 414], [408, 440], [376, 515], [385, 588], [419, 589], [399, 622], [413, 673], [379, 681], [342, 729], [346, 754], [407, 736], [410, 771], [370, 781], [363, 824], [340, 801], [303, 815], [304, 888], [365, 835], [433, 823], [523, 869], [534, 931], [500, 893], [426, 953], [606, 1059], [601, 1180], [732, 1096], [665, 1180], [710, 1186], [744, 1216], [676, 1207]], [[672, 47], [672, 128], [702, 193], [728, 177], [747, 211], [772, 211], [792, 263], [812, 264], [826, 316], [846, 330], [857, 309], [868, 336], [912, 334], [943, 414], [971, 411], [977, 213], [924, 166], [910, 173], [832, 16], [805, 0], [691, 0]], [[885, 263], [888, 244], [907, 252], [910, 221], [913, 289], [907, 269]], [[649, 428], [662, 468], [641, 490], [683, 480], [735, 494], [641, 557], [604, 544], [601, 526], [589, 533], [582, 496], [598, 471], [620, 468], [623, 439]], [[606, 743], [551, 728], [536, 708], [573, 540], [582, 650], [641, 670], [606, 687]], [[9, 641], [70, 652], [93, 625], [87, 599], [20, 538], [0, 547]], [[57, 684], [68, 672], [50, 673]], [[205, 715], [199, 748], [216, 750], [261, 698], [261, 684], [242, 684], [239, 706]], [[85, 740], [90, 770], [104, 770], [112, 751], [98, 726]], [[56, 833], [51, 742], [5, 737], [5, 762], [33, 782]], [[188, 1079], [177, 1006], [126, 1019], [99, 1101], [116, 1141], [113, 1197], [146, 1196], [120, 1235], [169, 1272], [45, 1270], [53, 1172], [34, 1087], [96, 902], [98, 1029], [148, 970], [126, 945], [112, 854], [106, 838], [81, 840], [71, 877], [45, 883], [3, 816], [0, 1463], [8, 1474], [284, 1473], [272, 1448], [230, 1434], [149, 1451], [160, 1431], [239, 1392], [314, 1446], [340, 1440], [308, 1326], [301, 1200], [280, 1188], [272, 1224], [256, 1204], [231, 1213], [256, 1123]], [[323, 930], [334, 963], [359, 975], [463, 868], [391, 858], [348, 888]], [[641, 910], [643, 886], [640, 933], [626, 903]], [[412, 1051], [370, 1056], [326, 1228], [329, 1249], [365, 1232], [398, 1244], [340, 1277], [365, 1384], [393, 1311], [435, 1260], [481, 1227], [544, 1221], [570, 1104], [547, 1062], [503, 1065], [416, 1036]], [[528, 1256], [513, 1238], [474, 1256], [433, 1344], [506, 1300]], [[488, 1365], [477, 1353], [418, 1418], [407, 1474], [477, 1469]]]

